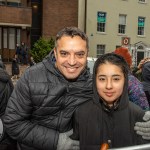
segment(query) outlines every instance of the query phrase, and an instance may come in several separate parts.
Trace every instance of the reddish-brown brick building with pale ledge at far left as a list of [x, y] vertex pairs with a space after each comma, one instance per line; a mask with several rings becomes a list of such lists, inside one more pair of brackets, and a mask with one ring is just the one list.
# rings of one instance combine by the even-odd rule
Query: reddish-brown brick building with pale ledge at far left
[[27, 0], [0, 0], [0, 55], [3, 61], [14, 57], [17, 43], [23, 41], [30, 46], [30, 6]]

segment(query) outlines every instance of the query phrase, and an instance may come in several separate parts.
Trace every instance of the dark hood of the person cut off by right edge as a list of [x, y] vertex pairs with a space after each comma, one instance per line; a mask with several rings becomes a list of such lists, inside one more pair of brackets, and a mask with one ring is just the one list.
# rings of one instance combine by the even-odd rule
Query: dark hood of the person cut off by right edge
[[150, 62], [147, 62], [142, 67], [143, 88], [144, 91], [150, 91]]

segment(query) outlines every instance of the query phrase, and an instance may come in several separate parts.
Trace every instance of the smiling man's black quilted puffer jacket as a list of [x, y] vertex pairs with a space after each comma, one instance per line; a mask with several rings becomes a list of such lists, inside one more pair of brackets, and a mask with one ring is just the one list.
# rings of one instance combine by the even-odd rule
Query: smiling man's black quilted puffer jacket
[[53, 51], [26, 70], [6, 108], [4, 125], [21, 150], [55, 150], [60, 132], [72, 128], [72, 114], [92, 96], [92, 79], [85, 70], [68, 82], [55, 68]]

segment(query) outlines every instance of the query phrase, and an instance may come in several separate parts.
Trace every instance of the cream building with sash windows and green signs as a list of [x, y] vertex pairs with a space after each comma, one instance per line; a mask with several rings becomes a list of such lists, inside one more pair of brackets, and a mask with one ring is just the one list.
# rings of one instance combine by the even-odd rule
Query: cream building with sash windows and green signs
[[150, 1], [85, 0], [91, 57], [128, 47], [134, 65], [150, 57]]

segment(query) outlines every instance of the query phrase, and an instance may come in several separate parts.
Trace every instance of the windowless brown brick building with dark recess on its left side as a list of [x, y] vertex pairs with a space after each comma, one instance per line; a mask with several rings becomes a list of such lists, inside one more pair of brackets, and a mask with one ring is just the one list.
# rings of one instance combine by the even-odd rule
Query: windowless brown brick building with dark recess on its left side
[[31, 0], [31, 47], [40, 38], [55, 37], [66, 26], [78, 26], [78, 0]]

